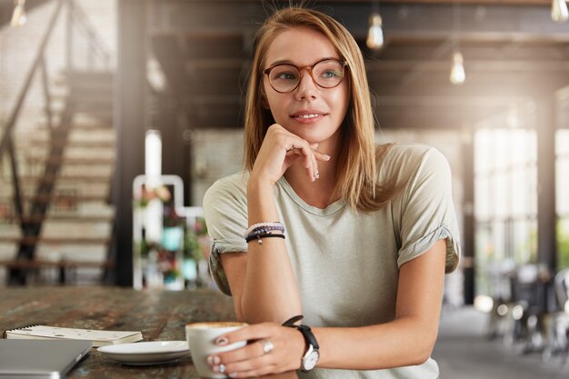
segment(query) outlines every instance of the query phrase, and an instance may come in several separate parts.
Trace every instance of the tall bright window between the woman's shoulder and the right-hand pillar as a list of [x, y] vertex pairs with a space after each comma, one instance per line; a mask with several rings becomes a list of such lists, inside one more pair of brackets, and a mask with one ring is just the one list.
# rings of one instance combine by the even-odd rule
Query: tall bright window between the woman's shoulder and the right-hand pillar
[[[569, 163], [569, 156], [568, 161]], [[523, 128], [474, 135], [476, 293], [492, 291], [491, 269], [537, 258], [537, 135]], [[568, 213], [569, 215], [569, 213]]]

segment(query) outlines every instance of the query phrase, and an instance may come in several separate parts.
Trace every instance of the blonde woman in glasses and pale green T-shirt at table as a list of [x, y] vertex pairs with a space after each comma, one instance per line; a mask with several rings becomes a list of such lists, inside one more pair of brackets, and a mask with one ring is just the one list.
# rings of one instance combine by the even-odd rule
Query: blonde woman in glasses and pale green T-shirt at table
[[288, 7], [259, 29], [245, 166], [204, 200], [212, 274], [252, 324], [217, 340], [251, 343], [210, 356], [215, 371], [437, 378], [459, 254], [449, 166], [429, 146], [374, 146], [362, 55], [330, 16]]

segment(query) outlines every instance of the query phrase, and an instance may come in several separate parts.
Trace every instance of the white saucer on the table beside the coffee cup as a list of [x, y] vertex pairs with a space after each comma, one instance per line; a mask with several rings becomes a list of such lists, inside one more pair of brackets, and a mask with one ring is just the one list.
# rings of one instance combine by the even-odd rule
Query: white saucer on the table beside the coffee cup
[[109, 344], [97, 349], [121, 364], [166, 364], [190, 354], [186, 341], [154, 341], [135, 344]]

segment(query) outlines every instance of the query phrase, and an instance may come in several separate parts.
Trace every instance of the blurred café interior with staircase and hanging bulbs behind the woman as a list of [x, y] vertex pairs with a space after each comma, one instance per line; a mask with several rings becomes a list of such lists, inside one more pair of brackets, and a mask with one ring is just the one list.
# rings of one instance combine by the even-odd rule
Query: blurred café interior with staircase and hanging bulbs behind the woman
[[[253, 35], [290, 3], [0, 0], [0, 326], [15, 323], [16, 297], [35, 304], [45, 288], [52, 305], [96, 288], [124, 312], [139, 309], [117, 305], [130, 298], [195, 317], [175, 305], [189, 299], [198, 316], [232, 317], [209, 274], [202, 201], [243, 170]], [[375, 142], [432, 145], [451, 166], [462, 256], [445, 277], [441, 377], [566, 377], [567, 4], [304, 3], [360, 46]], [[48, 322], [81, 326], [38, 304]], [[501, 365], [453, 368], [486, 359]]]

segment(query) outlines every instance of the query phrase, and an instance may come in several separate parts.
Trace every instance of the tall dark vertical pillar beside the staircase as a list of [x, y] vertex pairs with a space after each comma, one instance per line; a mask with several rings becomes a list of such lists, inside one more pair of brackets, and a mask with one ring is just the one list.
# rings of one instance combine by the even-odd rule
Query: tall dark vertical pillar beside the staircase
[[146, 3], [118, 2], [115, 284], [133, 284], [133, 181], [145, 171]]

